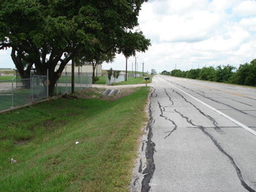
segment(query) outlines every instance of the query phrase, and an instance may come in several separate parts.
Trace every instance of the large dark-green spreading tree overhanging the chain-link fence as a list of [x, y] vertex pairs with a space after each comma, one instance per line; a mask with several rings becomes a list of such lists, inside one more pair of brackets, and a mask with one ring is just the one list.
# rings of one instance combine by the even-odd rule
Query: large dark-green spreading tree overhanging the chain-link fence
[[147, 50], [149, 39], [141, 31], [132, 32], [143, 2], [147, 0], [2, 0], [0, 50], [12, 49], [22, 78], [32, 65], [43, 75], [49, 70], [49, 91], [54, 94], [65, 65], [77, 54], [123, 53], [131, 39], [138, 40], [134, 50]]

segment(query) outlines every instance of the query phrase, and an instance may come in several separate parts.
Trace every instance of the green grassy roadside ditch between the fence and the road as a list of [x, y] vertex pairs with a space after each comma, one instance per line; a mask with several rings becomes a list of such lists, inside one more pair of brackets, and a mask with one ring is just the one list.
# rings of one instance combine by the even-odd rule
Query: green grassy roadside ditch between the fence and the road
[[98, 98], [68, 96], [1, 114], [0, 190], [128, 191], [148, 92], [136, 88], [110, 102], [92, 91], [80, 95]]

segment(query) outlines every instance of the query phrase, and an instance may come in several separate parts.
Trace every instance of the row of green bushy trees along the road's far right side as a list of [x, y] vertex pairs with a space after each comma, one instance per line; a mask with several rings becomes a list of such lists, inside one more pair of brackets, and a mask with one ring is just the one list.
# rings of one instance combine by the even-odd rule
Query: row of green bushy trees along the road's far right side
[[174, 69], [171, 72], [167, 72], [165, 70], [161, 74], [256, 87], [256, 59], [250, 61], [250, 63], [240, 65], [238, 69], [232, 65], [219, 65], [216, 68], [204, 67], [189, 71]]

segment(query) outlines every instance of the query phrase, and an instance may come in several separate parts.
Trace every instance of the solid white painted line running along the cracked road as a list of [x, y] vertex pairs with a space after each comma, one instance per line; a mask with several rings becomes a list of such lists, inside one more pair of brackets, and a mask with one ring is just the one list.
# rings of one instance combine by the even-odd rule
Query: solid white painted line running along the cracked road
[[[169, 83], [169, 82], [167, 81], [167, 83]], [[172, 87], [175, 87], [172, 83], [169, 83], [169, 84], [170, 84]], [[176, 88], [177, 90], [180, 90], [180, 91], [183, 92], [184, 94], [187, 94], [187, 92], [185, 92], [184, 90], [181, 90], [181, 89], [178, 88], [178, 87], [175, 87], [175, 88]], [[206, 105], [206, 107], [209, 107], [210, 109], [213, 109], [213, 111], [219, 113], [221, 116], [226, 117], [228, 120], [231, 120], [233, 123], [239, 125], [240, 127], [243, 127], [245, 130], [249, 131], [251, 134], [253, 134], [253, 135], [256, 136], [256, 131], [252, 130], [250, 127], [247, 127], [246, 125], [244, 125], [244, 124], [240, 123], [239, 121], [233, 119], [231, 116], [228, 116], [228, 115], [222, 113], [222, 112], [219, 111], [218, 109], [213, 108], [211, 105], [208, 105], [208, 104], [206, 104], [205, 102], [202, 102], [201, 100], [199, 100], [198, 98], [195, 98], [195, 97], [192, 96], [191, 94], [187, 94], [187, 95], [188, 95], [189, 97], [191, 97], [191, 98], [194, 98], [196, 101], [201, 102], [202, 105]]]

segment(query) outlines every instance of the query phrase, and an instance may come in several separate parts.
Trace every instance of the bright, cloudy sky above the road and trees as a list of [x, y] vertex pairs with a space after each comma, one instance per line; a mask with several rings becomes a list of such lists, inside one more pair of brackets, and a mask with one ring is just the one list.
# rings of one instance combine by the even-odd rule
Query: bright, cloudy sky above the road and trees
[[[136, 55], [139, 71], [190, 70], [239, 65], [256, 58], [256, 0], [149, 0], [139, 13], [139, 29], [151, 46]], [[0, 50], [0, 68], [15, 68], [9, 50]], [[125, 69], [117, 55], [102, 68]], [[135, 57], [128, 58], [128, 70]]]

